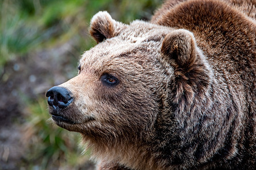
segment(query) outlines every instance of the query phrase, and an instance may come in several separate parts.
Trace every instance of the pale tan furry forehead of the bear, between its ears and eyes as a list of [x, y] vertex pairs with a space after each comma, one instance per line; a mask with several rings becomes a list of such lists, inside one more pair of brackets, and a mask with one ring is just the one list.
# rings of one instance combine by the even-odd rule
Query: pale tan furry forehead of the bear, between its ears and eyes
[[[106, 39], [86, 51], [80, 59], [80, 65], [102, 69], [103, 65], [148, 61], [152, 59], [150, 57], [160, 53], [164, 37], [172, 30], [174, 29], [170, 27], [135, 20], [117, 36]], [[123, 57], [129, 57], [129, 60]]]

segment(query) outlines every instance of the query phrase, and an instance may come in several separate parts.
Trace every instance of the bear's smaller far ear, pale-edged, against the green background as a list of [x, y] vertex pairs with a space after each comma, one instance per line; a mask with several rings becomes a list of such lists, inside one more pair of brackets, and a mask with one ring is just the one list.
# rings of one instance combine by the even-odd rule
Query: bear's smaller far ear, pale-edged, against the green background
[[106, 11], [100, 11], [90, 20], [90, 35], [97, 43], [117, 36], [125, 24], [112, 19]]

